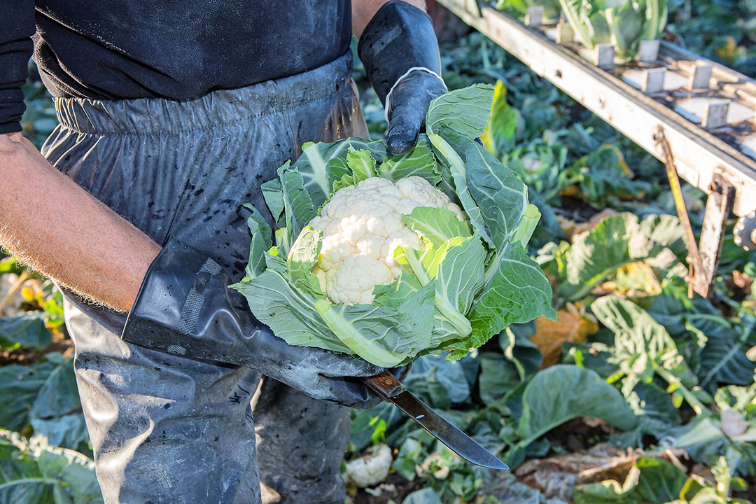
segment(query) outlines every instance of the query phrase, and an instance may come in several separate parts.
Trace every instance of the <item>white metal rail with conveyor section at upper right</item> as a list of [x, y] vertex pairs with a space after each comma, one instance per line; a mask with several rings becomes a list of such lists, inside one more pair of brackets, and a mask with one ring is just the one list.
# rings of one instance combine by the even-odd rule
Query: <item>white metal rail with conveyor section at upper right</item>
[[662, 161], [655, 134], [663, 128], [680, 177], [705, 193], [723, 180], [736, 190], [736, 215], [756, 210], [753, 79], [663, 41], [658, 56], [643, 63], [615, 66], [610, 57], [599, 67], [565, 36], [563, 24], [539, 25], [538, 11], [528, 13], [525, 26], [475, 0], [437, 2]]

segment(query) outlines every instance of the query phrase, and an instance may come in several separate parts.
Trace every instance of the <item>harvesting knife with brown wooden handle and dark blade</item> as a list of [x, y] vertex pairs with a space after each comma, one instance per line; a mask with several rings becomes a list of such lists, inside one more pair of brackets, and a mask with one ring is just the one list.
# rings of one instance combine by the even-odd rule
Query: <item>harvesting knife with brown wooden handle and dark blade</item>
[[362, 381], [383, 400], [393, 403], [438, 441], [445, 444], [467, 462], [492, 469], [508, 469], [493, 453], [486, 450], [460, 429], [451, 425], [441, 415], [431, 410], [422, 400], [404, 389], [401, 382], [388, 371], [376, 376], [368, 376]]

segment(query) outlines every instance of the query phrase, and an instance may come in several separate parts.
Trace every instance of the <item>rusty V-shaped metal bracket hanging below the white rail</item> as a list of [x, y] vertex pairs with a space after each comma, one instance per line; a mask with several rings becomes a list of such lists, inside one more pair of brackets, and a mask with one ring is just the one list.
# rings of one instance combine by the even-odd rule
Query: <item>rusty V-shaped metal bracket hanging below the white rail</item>
[[683, 199], [683, 191], [680, 187], [680, 178], [674, 165], [672, 149], [664, 135], [664, 128], [658, 127], [655, 140], [661, 144], [667, 166], [667, 178], [674, 196], [674, 206], [677, 216], [683, 224], [685, 231], [685, 244], [688, 248], [688, 275], [685, 277], [688, 283], [688, 297], [693, 297], [693, 292], [698, 292], [704, 298], [708, 298], [714, 286], [714, 277], [717, 274], [722, 243], [724, 241], [725, 221], [733, 211], [735, 203], [735, 187], [724, 180], [721, 174], [714, 174], [708, 189], [704, 223], [701, 230], [701, 240], [697, 244], [696, 236], [688, 218], [688, 211]]

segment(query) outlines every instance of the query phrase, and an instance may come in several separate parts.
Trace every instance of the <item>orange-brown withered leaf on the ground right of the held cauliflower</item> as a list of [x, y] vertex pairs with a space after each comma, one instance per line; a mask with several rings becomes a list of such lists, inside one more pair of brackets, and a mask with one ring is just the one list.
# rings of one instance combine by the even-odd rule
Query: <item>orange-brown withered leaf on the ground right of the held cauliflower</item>
[[599, 330], [598, 324], [590, 315], [565, 310], [556, 313], [559, 315], [556, 322], [546, 317], [535, 319], [535, 334], [530, 337], [530, 341], [544, 354], [541, 369], [556, 364], [562, 343], [582, 343], [588, 335]]

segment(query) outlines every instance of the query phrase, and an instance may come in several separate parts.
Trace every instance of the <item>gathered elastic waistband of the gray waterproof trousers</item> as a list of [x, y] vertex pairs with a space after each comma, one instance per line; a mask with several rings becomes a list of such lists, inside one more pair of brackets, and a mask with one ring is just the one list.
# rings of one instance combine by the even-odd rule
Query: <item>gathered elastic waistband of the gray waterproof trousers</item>
[[296, 76], [245, 88], [211, 91], [193, 100], [55, 98], [60, 125], [95, 135], [155, 135], [215, 128], [290, 110], [345, 92], [352, 79], [352, 53]]

